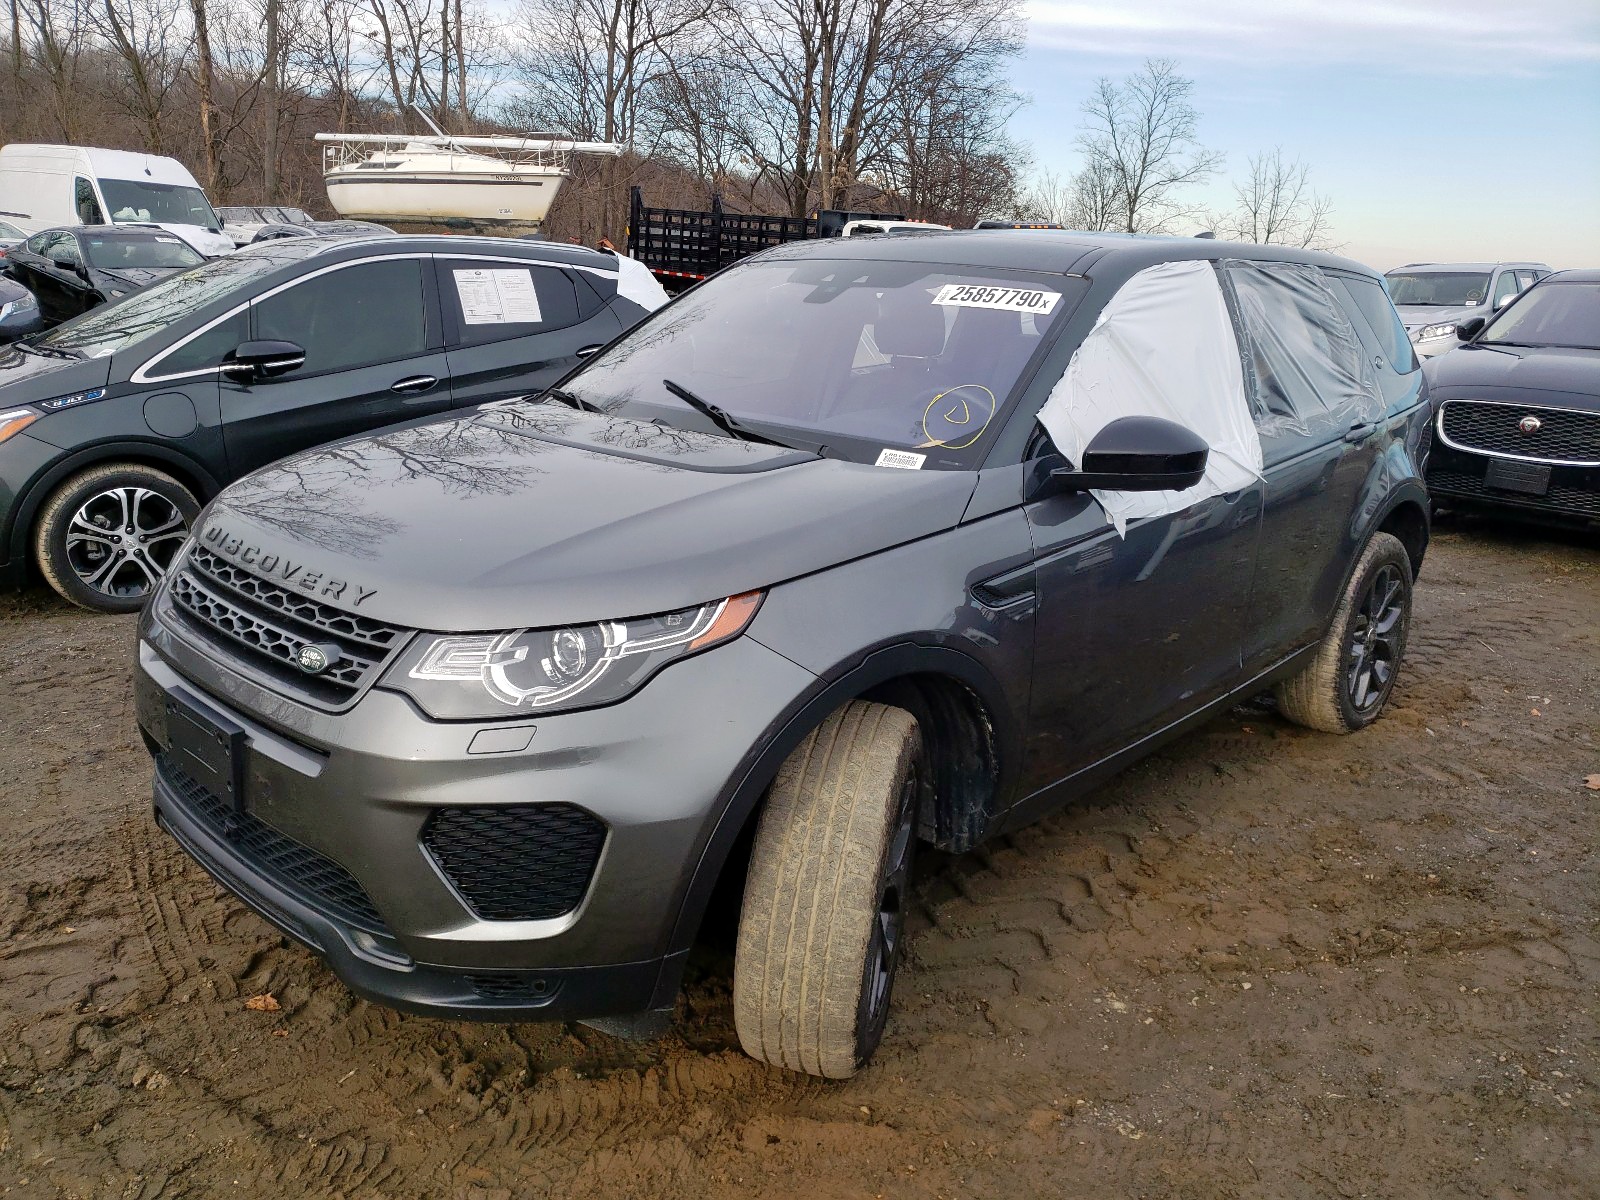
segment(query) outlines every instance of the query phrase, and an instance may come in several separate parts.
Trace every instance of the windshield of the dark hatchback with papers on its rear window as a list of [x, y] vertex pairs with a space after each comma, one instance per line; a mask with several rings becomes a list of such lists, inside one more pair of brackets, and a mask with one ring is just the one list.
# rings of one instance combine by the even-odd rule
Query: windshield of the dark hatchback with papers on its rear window
[[90, 309], [82, 317], [58, 325], [35, 344], [83, 358], [115, 354], [125, 346], [136, 346], [157, 336], [258, 275], [304, 258], [309, 251], [296, 253], [298, 245], [301, 238], [269, 242], [259, 248], [251, 246], [227, 258], [211, 259], [136, 291], [125, 301]]

